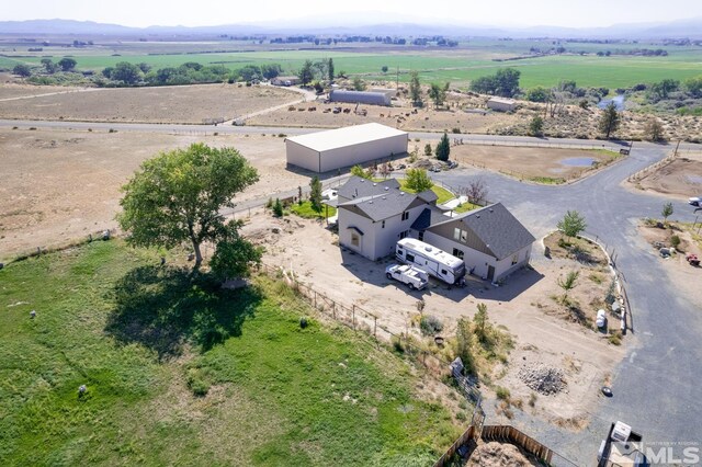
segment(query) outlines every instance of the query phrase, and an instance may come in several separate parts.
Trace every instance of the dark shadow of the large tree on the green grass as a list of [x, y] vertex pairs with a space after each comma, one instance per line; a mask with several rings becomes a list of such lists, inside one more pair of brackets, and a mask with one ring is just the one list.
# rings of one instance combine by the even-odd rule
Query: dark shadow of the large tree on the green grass
[[179, 267], [140, 266], [113, 289], [115, 307], [105, 332], [123, 344], [140, 343], [160, 360], [178, 356], [186, 342], [203, 351], [240, 335], [262, 296], [257, 287], [223, 289], [207, 274]]

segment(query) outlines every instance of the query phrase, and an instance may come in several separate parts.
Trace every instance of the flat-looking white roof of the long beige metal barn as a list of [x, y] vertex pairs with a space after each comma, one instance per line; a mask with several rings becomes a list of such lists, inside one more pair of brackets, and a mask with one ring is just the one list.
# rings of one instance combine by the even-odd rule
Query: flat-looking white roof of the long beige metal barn
[[322, 152], [330, 149], [343, 148], [362, 143], [376, 141], [378, 139], [392, 138], [394, 136], [407, 136], [401, 132], [380, 123], [366, 123], [364, 125], [347, 126], [327, 132], [310, 133], [307, 135], [294, 136], [286, 140], [296, 143], [312, 150]]

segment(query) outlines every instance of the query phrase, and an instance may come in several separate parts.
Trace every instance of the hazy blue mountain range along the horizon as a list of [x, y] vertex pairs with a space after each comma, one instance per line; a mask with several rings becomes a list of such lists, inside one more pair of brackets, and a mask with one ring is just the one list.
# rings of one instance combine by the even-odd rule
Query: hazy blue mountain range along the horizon
[[[373, 18], [367, 15], [365, 18]], [[338, 21], [338, 20], [337, 20]], [[366, 20], [367, 21], [367, 20]], [[607, 27], [497, 27], [487, 25], [424, 24], [403, 21], [385, 24], [354, 23], [351, 26], [332, 26], [332, 19], [322, 16], [293, 20], [285, 25], [275, 23], [223, 24], [217, 26], [149, 26], [129, 27], [120, 24], [95, 23], [73, 20], [2, 21], [0, 34], [33, 35], [104, 35], [104, 36], [214, 36], [214, 35], [390, 35], [453, 37], [580, 37], [580, 38], [702, 38], [702, 18], [679, 20], [669, 23], [626, 23]], [[349, 24], [347, 22], [347, 24]]]

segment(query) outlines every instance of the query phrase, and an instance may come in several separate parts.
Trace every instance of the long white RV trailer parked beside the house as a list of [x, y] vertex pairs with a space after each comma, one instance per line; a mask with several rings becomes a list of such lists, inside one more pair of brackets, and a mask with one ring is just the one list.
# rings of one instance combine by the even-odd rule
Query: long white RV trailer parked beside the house
[[448, 284], [460, 284], [465, 276], [465, 263], [443, 250], [414, 238], [404, 238], [395, 247], [395, 257], [414, 264]]

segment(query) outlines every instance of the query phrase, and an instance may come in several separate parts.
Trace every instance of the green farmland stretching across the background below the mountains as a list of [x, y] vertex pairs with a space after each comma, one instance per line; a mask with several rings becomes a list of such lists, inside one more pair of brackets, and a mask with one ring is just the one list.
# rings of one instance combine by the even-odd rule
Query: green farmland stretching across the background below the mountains
[[[11, 52], [2, 47], [0, 67], [12, 68], [18, 62], [38, 65], [42, 57], [59, 59], [71, 55], [79, 69], [102, 70], [118, 61], [146, 62], [155, 68], [178, 67], [186, 61], [203, 65], [223, 65], [230, 69], [247, 65], [280, 64], [284, 73], [296, 73], [306, 59], [332, 58], [337, 71], [363, 76], [370, 80], [407, 82], [409, 71], [418, 71], [423, 82], [449, 81], [465, 87], [475, 78], [494, 73], [499, 68], [513, 67], [521, 72], [521, 87], [552, 87], [561, 80], [575, 80], [580, 87], [626, 88], [665, 78], [684, 80], [700, 75], [702, 47], [675, 47], [657, 44], [580, 44], [562, 43], [567, 54], [532, 57], [512, 61], [494, 61], [528, 54], [531, 47], [548, 49], [556, 41], [471, 41], [456, 48], [399, 47], [369, 44], [314, 47], [298, 45], [305, 49], [276, 49], [272, 45], [231, 44], [139, 44], [125, 46], [106, 45], [97, 48], [66, 50], [49, 47], [39, 53]], [[286, 46], [290, 47], [290, 46]], [[661, 48], [669, 53], [665, 57], [616, 56], [598, 57], [597, 52], [607, 49]], [[223, 52], [226, 50], [226, 52]], [[67, 54], [69, 52], [69, 54]], [[579, 55], [585, 52], [589, 55]], [[55, 54], [55, 55], [53, 55]], [[388, 67], [387, 73], [381, 68]], [[399, 71], [399, 76], [396, 72]]]

